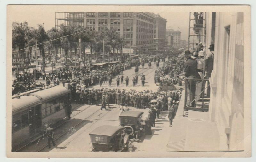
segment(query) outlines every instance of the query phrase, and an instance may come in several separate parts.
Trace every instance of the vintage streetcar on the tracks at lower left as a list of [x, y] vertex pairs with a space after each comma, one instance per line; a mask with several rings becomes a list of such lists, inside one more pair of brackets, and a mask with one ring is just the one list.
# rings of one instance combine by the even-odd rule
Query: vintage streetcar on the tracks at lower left
[[56, 85], [12, 96], [12, 151], [40, 138], [49, 123], [60, 124], [69, 99], [70, 90]]

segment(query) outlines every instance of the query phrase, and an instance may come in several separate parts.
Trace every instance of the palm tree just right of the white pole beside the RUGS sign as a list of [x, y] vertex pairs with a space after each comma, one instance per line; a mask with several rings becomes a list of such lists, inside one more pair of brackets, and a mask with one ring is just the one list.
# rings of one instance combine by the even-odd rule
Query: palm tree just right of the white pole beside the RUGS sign
[[[42, 53], [42, 70], [45, 70], [45, 53], [44, 53], [44, 42], [48, 39], [44, 27], [38, 24], [38, 28], [35, 30], [35, 38], [37, 39], [37, 45], [40, 53]], [[43, 43], [43, 44], [40, 44]]]

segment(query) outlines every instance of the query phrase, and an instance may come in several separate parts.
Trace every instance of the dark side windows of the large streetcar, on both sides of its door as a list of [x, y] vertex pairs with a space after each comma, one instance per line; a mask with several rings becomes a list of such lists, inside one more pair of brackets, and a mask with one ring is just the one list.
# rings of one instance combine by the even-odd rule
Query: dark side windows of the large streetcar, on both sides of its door
[[[41, 119], [47, 117], [48, 115], [51, 115], [52, 113], [60, 111], [66, 106], [67, 106], [67, 96], [61, 96], [57, 99], [41, 104]], [[32, 107], [32, 108], [35, 108], [35, 107]], [[12, 115], [12, 133], [22, 128], [28, 127], [29, 123], [32, 122], [30, 121], [32, 120], [32, 118], [33, 118], [33, 114], [30, 114], [29, 109]]]

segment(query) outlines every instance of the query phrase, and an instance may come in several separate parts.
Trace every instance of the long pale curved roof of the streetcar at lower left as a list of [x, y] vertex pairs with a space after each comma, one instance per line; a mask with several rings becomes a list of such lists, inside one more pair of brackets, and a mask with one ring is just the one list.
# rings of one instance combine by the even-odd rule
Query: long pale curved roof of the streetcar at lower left
[[33, 93], [29, 93], [28, 96], [20, 96], [20, 98], [12, 99], [12, 112], [22, 108], [33, 106], [44, 100], [55, 98], [57, 96], [69, 93], [70, 90], [63, 86], [55, 86], [44, 90], [39, 90]]

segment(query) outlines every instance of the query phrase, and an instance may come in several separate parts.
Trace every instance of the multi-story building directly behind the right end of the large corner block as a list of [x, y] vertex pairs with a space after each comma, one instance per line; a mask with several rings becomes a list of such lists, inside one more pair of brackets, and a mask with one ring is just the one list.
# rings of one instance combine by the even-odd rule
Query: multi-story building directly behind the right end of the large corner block
[[156, 50], [161, 50], [166, 46], [166, 19], [162, 18], [159, 14], [155, 15], [154, 20], [154, 44]]

